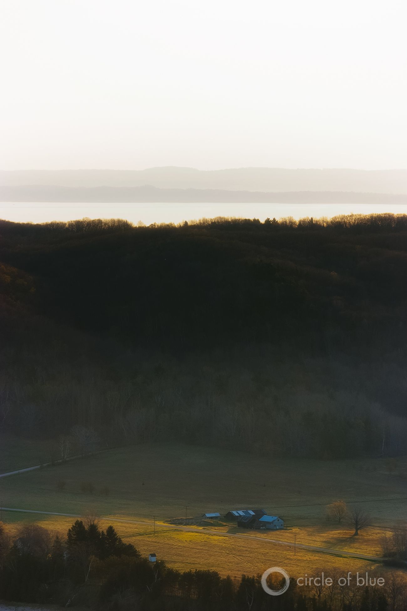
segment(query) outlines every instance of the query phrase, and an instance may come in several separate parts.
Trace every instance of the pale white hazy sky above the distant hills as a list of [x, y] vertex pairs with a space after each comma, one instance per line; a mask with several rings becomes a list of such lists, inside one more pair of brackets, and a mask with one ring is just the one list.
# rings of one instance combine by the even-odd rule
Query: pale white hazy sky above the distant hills
[[405, 0], [0, 7], [0, 169], [407, 167]]

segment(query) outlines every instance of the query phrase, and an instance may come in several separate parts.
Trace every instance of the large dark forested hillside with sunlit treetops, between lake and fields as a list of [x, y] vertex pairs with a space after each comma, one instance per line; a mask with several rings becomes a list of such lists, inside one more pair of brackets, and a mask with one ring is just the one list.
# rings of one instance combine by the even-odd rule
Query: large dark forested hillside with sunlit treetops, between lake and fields
[[407, 216], [0, 222], [2, 431], [406, 452]]

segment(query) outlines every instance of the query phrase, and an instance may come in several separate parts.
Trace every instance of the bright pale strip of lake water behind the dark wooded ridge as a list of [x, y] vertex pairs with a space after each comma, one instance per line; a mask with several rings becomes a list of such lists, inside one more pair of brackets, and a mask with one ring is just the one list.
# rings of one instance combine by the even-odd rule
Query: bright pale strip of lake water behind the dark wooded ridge
[[46, 221], [71, 221], [87, 216], [97, 218], [127, 219], [135, 224], [191, 221], [203, 217], [238, 216], [279, 219], [293, 216], [328, 218], [336, 214], [369, 214], [392, 212], [407, 214], [407, 204], [290, 204], [290, 203], [38, 203], [0, 202], [0, 218], [7, 221], [42, 223]]

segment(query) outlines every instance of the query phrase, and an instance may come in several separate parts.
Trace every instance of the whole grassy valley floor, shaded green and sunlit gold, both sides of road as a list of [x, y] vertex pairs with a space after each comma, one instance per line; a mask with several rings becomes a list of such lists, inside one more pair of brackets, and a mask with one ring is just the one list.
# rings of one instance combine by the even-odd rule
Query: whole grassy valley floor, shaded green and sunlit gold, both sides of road
[[[398, 469], [403, 470], [404, 463]], [[65, 482], [63, 490], [58, 488], [59, 481]], [[92, 494], [81, 491], [82, 482], [92, 483]], [[107, 496], [101, 494], [104, 486], [109, 489]], [[270, 562], [286, 566], [293, 575], [304, 566], [348, 570], [371, 566], [362, 560], [302, 549], [294, 556], [290, 547], [268, 545], [254, 537], [293, 541], [296, 535], [297, 543], [380, 556], [384, 529], [405, 519], [406, 496], [405, 479], [399, 470], [389, 473], [386, 461], [270, 460], [170, 444], [119, 448], [0, 479], [3, 507], [80, 515], [95, 511], [147, 521], [148, 526], [114, 525], [143, 554], [156, 551], [170, 566], [214, 568], [236, 575], [262, 571]], [[372, 516], [373, 526], [353, 537], [345, 520], [341, 525], [327, 522], [326, 504], [335, 499], [344, 499], [349, 507], [362, 506]], [[283, 517], [286, 529], [259, 533], [237, 529], [236, 524], [217, 526], [251, 535], [253, 541], [209, 535], [204, 529], [202, 533], [181, 532], [170, 524], [157, 527], [153, 535], [153, 514], [157, 521], [165, 522], [185, 516], [185, 506], [187, 515], [195, 516], [196, 521], [206, 511], [225, 514], [229, 509], [261, 507]], [[11, 512], [4, 512], [3, 520], [11, 529], [21, 521], [33, 520], [61, 533], [73, 521]]]

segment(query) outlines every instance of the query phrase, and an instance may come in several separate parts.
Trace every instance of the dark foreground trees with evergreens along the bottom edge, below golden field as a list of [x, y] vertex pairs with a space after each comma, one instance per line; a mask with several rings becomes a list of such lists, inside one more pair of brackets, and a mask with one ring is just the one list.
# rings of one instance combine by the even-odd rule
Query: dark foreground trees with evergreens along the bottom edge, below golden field
[[[320, 576], [321, 571], [315, 571]], [[325, 578], [328, 575], [325, 572]], [[18, 602], [91, 607], [106, 611], [404, 611], [405, 579], [369, 571], [370, 587], [351, 582], [300, 587], [295, 579], [281, 596], [262, 588], [261, 576], [222, 577], [216, 571], [181, 572], [151, 563], [97, 516], [76, 520], [66, 538], [37, 524], [21, 525], [11, 538], [0, 522], [0, 597]], [[378, 578], [383, 577], [383, 585]], [[374, 582], [373, 582], [374, 580]], [[346, 581], [346, 579], [345, 579]], [[278, 590], [284, 585], [272, 582]]]

